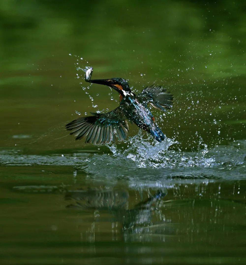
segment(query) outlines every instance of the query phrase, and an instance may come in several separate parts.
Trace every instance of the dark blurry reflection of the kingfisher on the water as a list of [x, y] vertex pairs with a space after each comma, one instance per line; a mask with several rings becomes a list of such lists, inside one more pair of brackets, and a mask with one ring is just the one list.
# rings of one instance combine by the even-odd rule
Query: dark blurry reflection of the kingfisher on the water
[[143, 193], [147, 193], [147, 199], [142, 199], [132, 209], [129, 209], [131, 196], [126, 190], [68, 191], [65, 198], [74, 202], [67, 206], [69, 208], [109, 210], [115, 217], [113, 221], [121, 223], [123, 230], [139, 232], [143, 227], [153, 225], [152, 217], [158, 211], [158, 201], [167, 194], [166, 190], [136, 192], [135, 199], [144, 197]]

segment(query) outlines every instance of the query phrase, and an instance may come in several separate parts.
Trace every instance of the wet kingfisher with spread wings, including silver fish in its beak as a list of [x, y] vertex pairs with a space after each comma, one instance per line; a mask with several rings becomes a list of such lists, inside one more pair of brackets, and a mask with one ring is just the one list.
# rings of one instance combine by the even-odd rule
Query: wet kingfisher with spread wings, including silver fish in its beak
[[163, 86], [147, 86], [139, 94], [135, 94], [126, 79], [114, 77], [91, 80], [93, 68], [85, 74], [85, 81], [109, 86], [119, 93], [120, 105], [107, 113], [91, 113], [92, 116], [81, 117], [66, 125], [75, 140], [85, 138], [86, 143], [108, 144], [126, 140], [129, 131], [128, 121], [151, 134], [155, 140], [162, 142], [165, 135], [155, 122], [148, 105], [160, 111], [172, 107], [173, 96]]

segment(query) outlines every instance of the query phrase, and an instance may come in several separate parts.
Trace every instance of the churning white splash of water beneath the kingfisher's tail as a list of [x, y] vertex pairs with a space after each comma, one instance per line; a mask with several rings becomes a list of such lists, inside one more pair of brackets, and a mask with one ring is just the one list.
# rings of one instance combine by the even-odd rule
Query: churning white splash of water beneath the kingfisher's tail
[[[93, 172], [93, 167], [101, 167], [105, 164], [110, 166], [127, 168], [145, 168], [145, 169], [173, 169], [180, 167], [213, 167], [216, 165], [215, 158], [206, 158], [208, 147], [202, 144], [200, 138], [198, 152], [177, 152], [169, 149], [172, 145], [178, 144], [177, 141], [167, 138], [159, 143], [151, 140], [151, 136], [142, 138], [142, 131], [137, 135], [130, 137], [127, 143], [127, 149], [119, 151], [115, 144], [107, 145], [112, 155], [95, 154], [88, 162], [87, 168]], [[201, 149], [201, 146], [204, 149]]]

